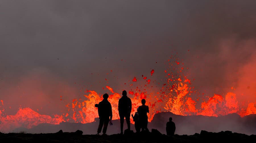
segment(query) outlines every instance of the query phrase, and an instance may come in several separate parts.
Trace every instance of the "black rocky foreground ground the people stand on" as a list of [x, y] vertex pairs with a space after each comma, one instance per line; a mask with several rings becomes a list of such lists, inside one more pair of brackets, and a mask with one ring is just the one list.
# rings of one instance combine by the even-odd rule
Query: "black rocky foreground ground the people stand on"
[[161, 134], [158, 130], [152, 129], [150, 133], [127, 133], [124, 135], [82, 135], [82, 131], [64, 132], [61, 130], [57, 133], [47, 134], [26, 134], [26, 133], [0, 133], [1, 142], [252, 142], [256, 140], [256, 135], [245, 135], [240, 133], [232, 133], [231, 131], [221, 131], [212, 133], [201, 131], [200, 134], [194, 135], [174, 135], [167, 136]]

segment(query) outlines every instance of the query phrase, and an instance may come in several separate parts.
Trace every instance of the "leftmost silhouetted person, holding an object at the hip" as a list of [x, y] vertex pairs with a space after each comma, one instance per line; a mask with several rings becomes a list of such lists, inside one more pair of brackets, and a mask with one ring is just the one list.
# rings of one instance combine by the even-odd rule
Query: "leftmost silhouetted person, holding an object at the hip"
[[103, 127], [102, 132], [103, 132], [103, 135], [106, 135], [108, 123], [110, 120], [112, 120], [112, 107], [111, 107], [110, 102], [108, 101], [108, 94], [104, 94], [103, 100], [100, 101], [99, 104], [95, 104], [95, 107], [98, 107], [98, 114], [99, 114], [99, 118], [100, 118], [97, 135], [99, 135], [99, 133], [101, 132], [103, 125], [104, 125], [104, 127]]

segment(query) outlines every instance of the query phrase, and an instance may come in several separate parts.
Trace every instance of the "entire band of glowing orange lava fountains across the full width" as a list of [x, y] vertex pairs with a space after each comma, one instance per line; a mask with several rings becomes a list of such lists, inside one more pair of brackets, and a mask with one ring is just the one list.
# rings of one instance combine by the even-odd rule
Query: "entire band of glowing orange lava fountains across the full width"
[[[172, 58], [172, 57], [171, 57]], [[198, 99], [193, 99], [191, 94], [195, 93], [194, 87], [191, 86], [191, 80], [182, 75], [183, 68], [182, 62], [176, 59], [173, 63], [168, 60], [168, 69], [164, 71], [151, 70], [153, 73], [164, 73], [166, 80], [162, 86], [152, 79], [147, 79], [145, 75], [140, 78], [134, 77], [127, 88], [128, 97], [132, 101], [131, 114], [135, 114], [137, 108], [141, 105], [141, 99], [146, 99], [146, 105], [149, 106], [150, 112], [148, 113], [148, 121], [150, 122], [154, 115], [159, 112], [172, 112], [177, 115], [204, 115], [204, 116], [223, 116], [230, 113], [237, 113], [241, 117], [256, 114], [256, 102], [250, 102], [246, 108], [238, 102], [236, 94], [228, 92], [225, 97], [214, 94], [207, 101], [202, 103]], [[179, 66], [177, 68], [176, 66]], [[112, 70], [111, 70], [112, 72]], [[193, 79], [194, 80], [194, 79]], [[142, 85], [135, 85], [141, 84]], [[125, 83], [126, 84], [126, 83]], [[156, 84], [160, 85], [155, 86]], [[157, 88], [157, 89], [156, 89]], [[118, 100], [121, 95], [110, 86], [106, 86], [106, 93], [109, 94], [108, 101], [112, 105], [113, 120], [119, 119], [118, 114]], [[93, 90], [84, 91], [86, 94], [83, 99], [73, 99], [72, 102], [66, 104], [66, 111], [62, 115], [41, 115], [30, 108], [19, 109], [15, 115], [4, 116], [4, 101], [0, 100], [0, 131], [12, 131], [17, 127], [32, 128], [40, 123], [59, 124], [61, 122], [76, 122], [76, 123], [90, 123], [95, 122], [98, 118], [98, 109], [95, 104], [102, 101], [103, 94], [99, 94]], [[119, 91], [121, 92], [121, 91]], [[61, 97], [61, 96], [60, 96]], [[201, 106], [197, 106], [201, 105]], [[133, 123], [132, 117], [131, 122]]]

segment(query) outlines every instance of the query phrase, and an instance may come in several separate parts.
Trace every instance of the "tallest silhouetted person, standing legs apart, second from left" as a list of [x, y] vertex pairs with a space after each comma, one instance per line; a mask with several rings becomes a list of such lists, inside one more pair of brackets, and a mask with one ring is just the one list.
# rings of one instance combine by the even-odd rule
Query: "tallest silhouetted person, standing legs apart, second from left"
[[120, 123], [121, 123], [121, 133], [123, 134], [123, 122], [124, 118], [127, 123], [128, 130], [130, 130], [130, 116], [131, 116], [131, 99], [127, 97], [127, 92], [123, 90], [122, 97], [118, 101], [118, 112], [120, 116]]

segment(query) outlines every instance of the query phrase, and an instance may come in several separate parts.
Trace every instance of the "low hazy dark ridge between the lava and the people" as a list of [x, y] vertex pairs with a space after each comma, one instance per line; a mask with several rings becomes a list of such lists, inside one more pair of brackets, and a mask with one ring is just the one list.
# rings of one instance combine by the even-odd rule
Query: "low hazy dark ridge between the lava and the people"
[[[166, 122], [168, 122], [169, 117], [173, 118], [173, 122], [176, 124], [175, 134], [178, 135], [193, 135], [195, 133], [200, 133], [201, 130], [209, 132], [232, 131], [246, 135], [256, 135], [256, 114], [241, 118], [238, 114], [209, 117], [202, 115], [181, 116], [171, 112], [161, 112], [154, 116], [152, 122], [148, 123], [148, 129], [157, 129], [162, 134], [166, 134]], [[62, 122], [59, 125], [52, 125], [44, 123], [31, 129], [17, 128], [13, 130], [13, 132], [56, 133], [59, 130], [63, 130], [64, 132], [81, 130], [84, 135], [90, 135], [97, 133], [99, 119], [96, 118], [95, 120], [96, 122], [86, 124]], [[124, 129], [127, 129], [126, 122], [124, 123]], [[131, 124], [131, 130], [135, 131], [133, 124]], [[107, 134], [112, 135], [117, 133], [120, 133], [120, 121], [113, 120], [113, 125], [108, 125]]]

